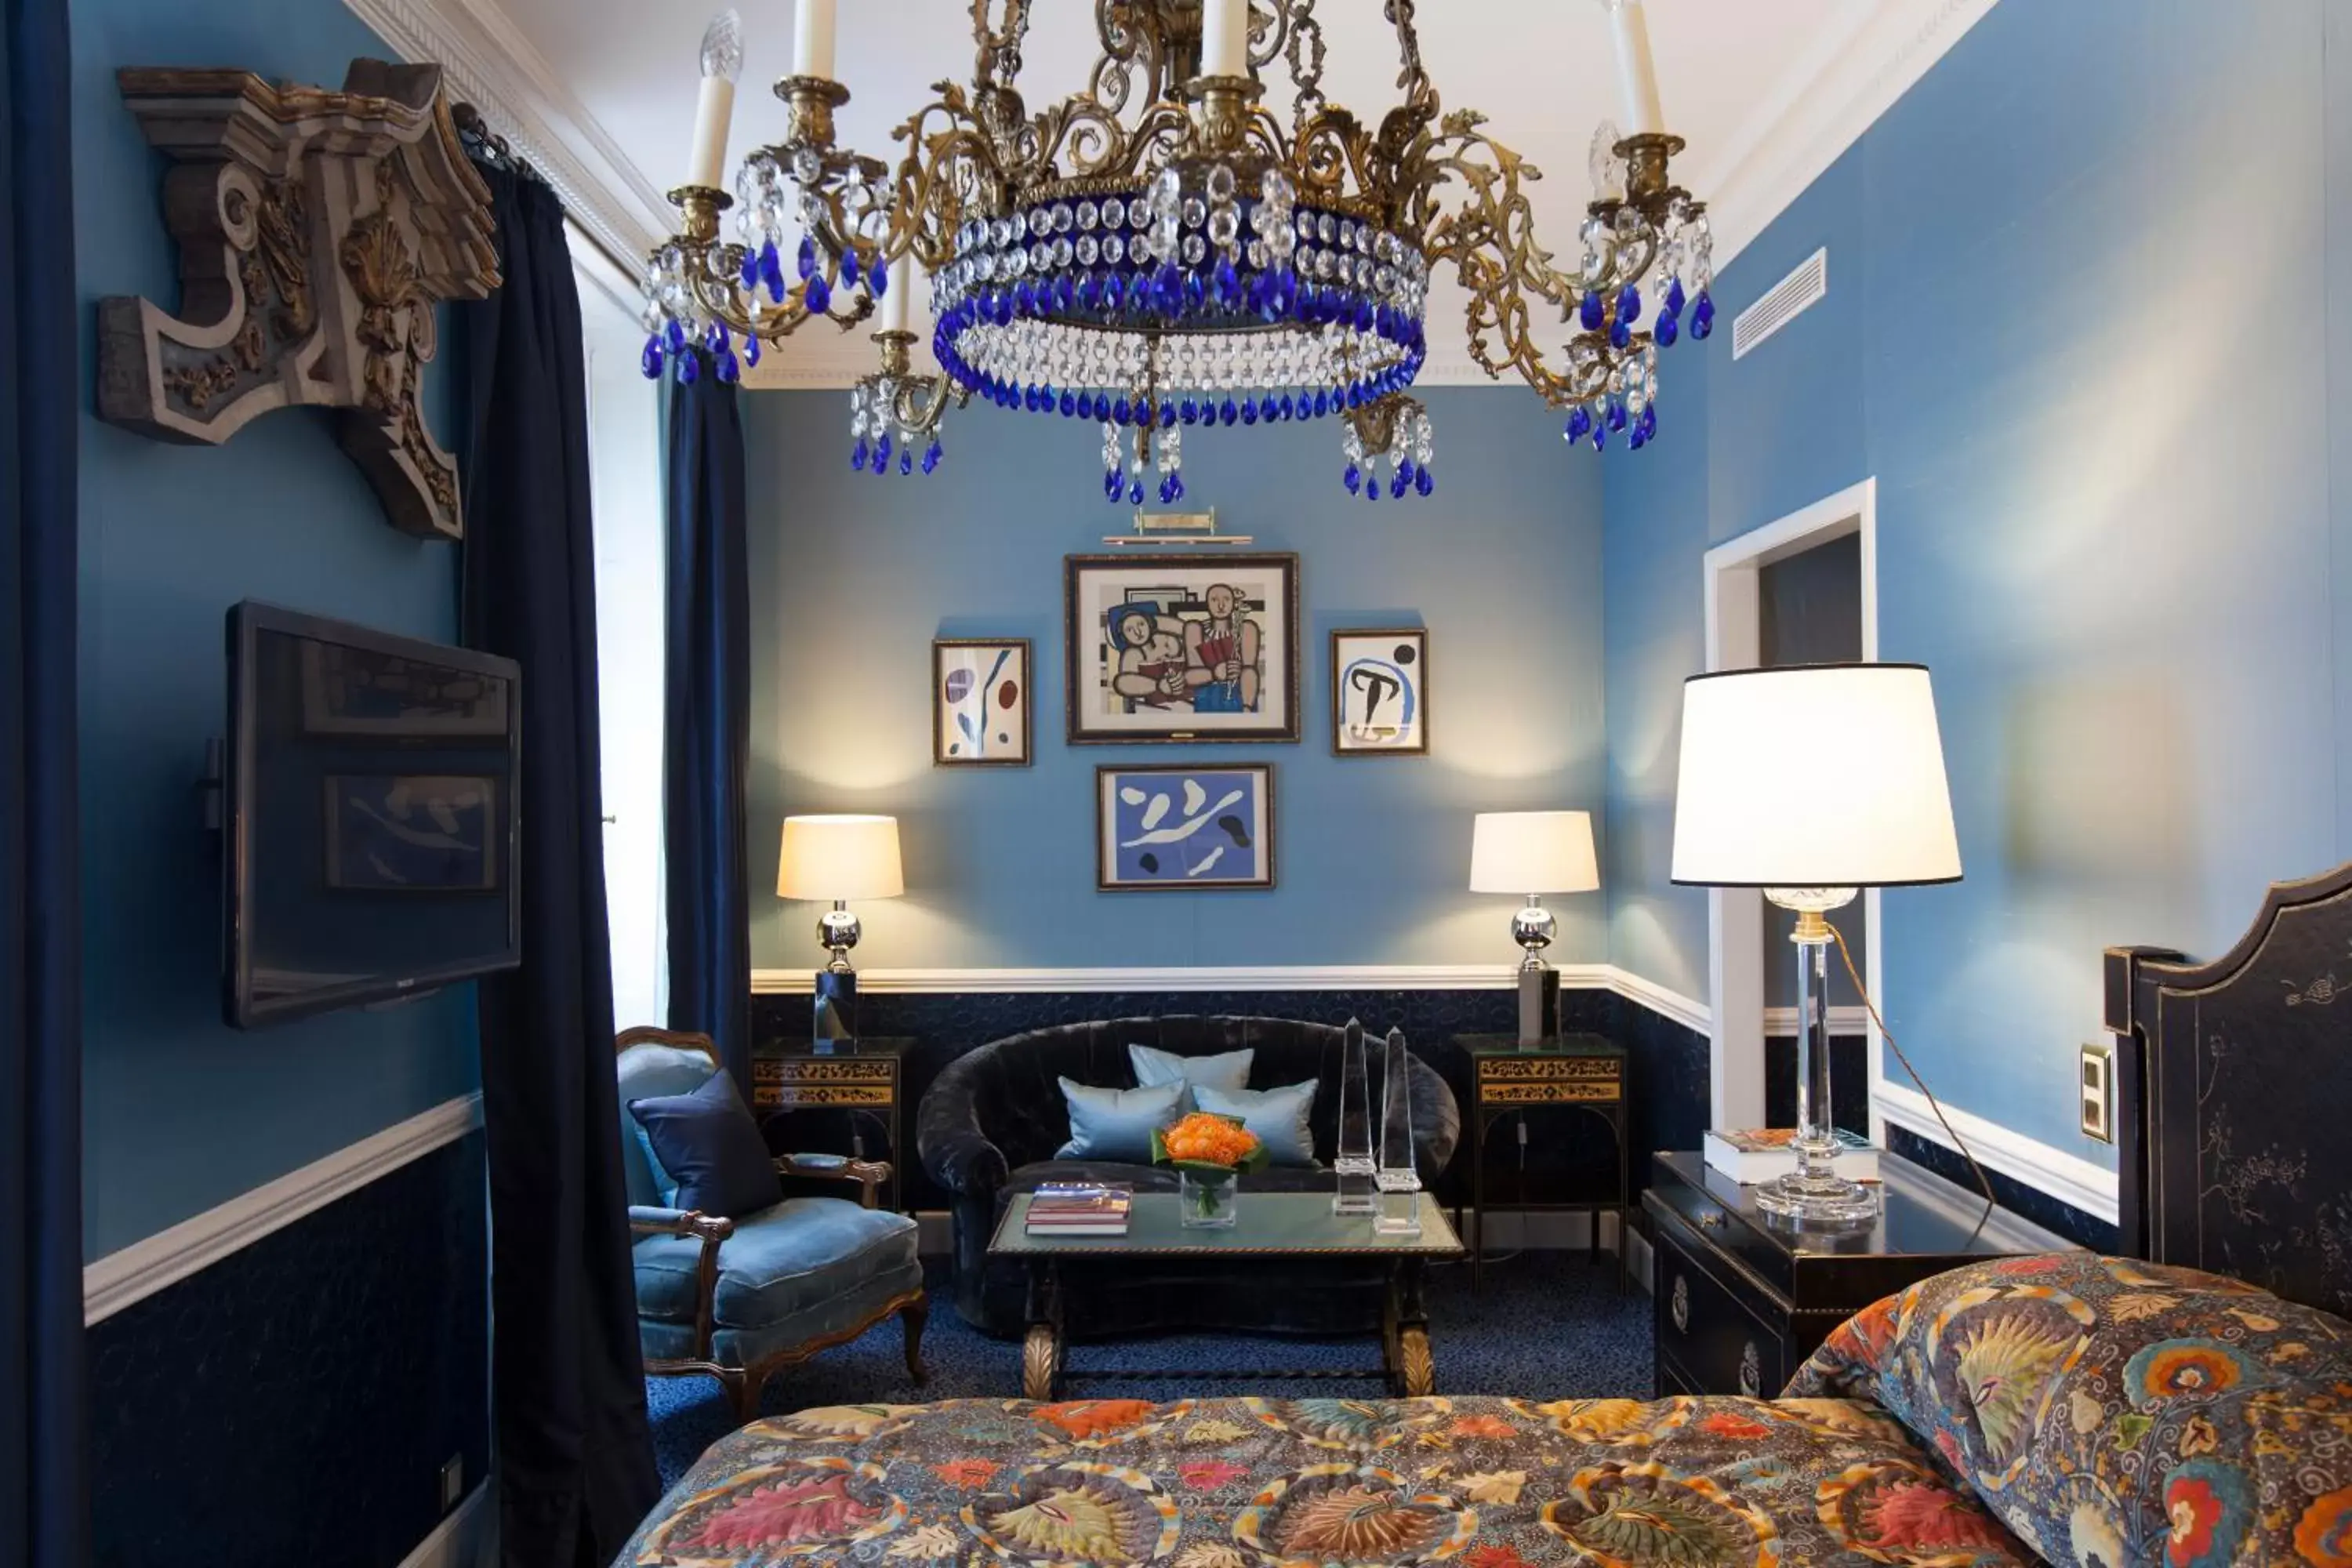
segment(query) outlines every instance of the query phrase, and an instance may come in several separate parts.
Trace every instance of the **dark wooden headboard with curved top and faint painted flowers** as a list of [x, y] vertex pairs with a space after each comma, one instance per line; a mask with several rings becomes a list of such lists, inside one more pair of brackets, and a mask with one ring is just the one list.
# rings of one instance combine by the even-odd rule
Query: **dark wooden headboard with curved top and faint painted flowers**
[[2124, 1248], [2352, 1314], [2352, 865], [2211, 964], [2107, 950]]

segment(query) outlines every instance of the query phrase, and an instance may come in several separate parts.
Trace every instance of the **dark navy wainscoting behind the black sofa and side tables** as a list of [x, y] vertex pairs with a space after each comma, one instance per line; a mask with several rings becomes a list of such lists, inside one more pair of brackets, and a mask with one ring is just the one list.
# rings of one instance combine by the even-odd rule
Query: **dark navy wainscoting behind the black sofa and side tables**
[[[1562, 1027], [1609, 1034], [1625, 1046], [1632, 1074], [1632, 1173], [1649, 1185], [1649, 1154], [1696, 1150], [1708, 1126], [1708, 1037], [1672, 1018], [1604, 990], [1564, 990]], [[950, 1060], [1007, 1034], [1094, 1018], [1261, 1016], [1348, 1023], [1359, 1018], [1374, 1034], [1402, 1027], [1414, 1051], [1454, 1086], [1468, 1114], [1470, 1065], [1454, 1048], [1456, 1034], [1505, 1034], [1517, 1030], [1517, 994], [1505, 990], [1303, 990], [1303, 992], [868, 992], [858, 999], [858, 1030], [870, 1037], [903, 1037], [915, 1046], [906, 1063], [906, 1135], [915, 1135], [915, 1107]], [[755, 997], [753, 1039], [760, 1044], [809, 1039], [809, 999]], [[1590, 1117], [1531, 1112], [1529, 1138], [1496, 1126], [1486, 1145], [1489, 1201], [1508, 1206], [1522, 1192], [1543, 1199], [1576, 1197], [1592, 1182], [1613, 1180], [1609, 1138]], [[866, 1128], [873, 1138], [875, 1131]], [[868, 1143], [868, 1147], [873, 1147]], [[915, 1150], [894, 1152], [908, 1180], [913, 1208], [943, 1208], [941, 1194], [920, 1171]], [[1435, 1182], [1439, 1199], [1465, 1201], [1470, 1152]]]

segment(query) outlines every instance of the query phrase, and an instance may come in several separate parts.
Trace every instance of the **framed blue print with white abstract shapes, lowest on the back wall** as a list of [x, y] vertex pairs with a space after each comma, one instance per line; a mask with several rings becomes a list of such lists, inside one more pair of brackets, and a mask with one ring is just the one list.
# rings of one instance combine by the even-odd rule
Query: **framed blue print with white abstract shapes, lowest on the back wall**
[[1275, 886], [1275, 769], [1094, 769], [1094, 886], [1105, 893]]

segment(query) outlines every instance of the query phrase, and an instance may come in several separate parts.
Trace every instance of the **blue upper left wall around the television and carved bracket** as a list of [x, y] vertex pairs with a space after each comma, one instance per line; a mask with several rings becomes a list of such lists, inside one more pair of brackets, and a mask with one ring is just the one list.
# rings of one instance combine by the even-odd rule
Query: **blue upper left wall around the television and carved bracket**
[[[94, 301], [179, 306], [162, 162], [118, 66], [249, 66], [341, 85], [383, 45], [329, 0], [75, 0], [75, 247]], [[82, 407], [92, 400], [85, 341]], [[219, 449], [82, 418], [85, 1251], [96, 1258], [477, 1084], [473, 992], [240, 1034], [219, 1020], [221, 616], [245, 597], [423, 637], [456, 630], [456, 555], [395, 534], [329, 416]]]

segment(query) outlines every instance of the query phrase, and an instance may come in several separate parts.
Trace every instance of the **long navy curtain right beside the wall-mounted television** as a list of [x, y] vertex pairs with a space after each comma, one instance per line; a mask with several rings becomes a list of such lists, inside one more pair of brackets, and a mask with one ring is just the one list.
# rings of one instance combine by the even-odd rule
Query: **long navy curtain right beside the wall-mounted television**
[[612, 1067], [588, 374], [562, 202], [482, 176], [503, 282], [456, 308], [466, 637], [522, 663], [522, 969], [482, 983], [499, 1549], [600, 1568], [661, 1483]]

